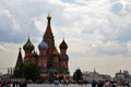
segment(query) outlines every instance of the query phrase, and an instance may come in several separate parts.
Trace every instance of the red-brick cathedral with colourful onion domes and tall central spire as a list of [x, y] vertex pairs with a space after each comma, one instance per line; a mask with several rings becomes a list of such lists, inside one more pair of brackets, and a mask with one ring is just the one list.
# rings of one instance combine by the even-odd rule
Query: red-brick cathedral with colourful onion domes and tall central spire
[[28, 37], [27, 41], [23, 46], [25, 55], [22, 58], [20, 49], [15, 69], [17, 69], [22, 62], [24, 64], [37, 62], [40, 69], [40, 77], [43, 77], [45, 82], [49, 82], [52, 76], [62, 79], [69, 79], [69, 57], [67, 54], [68, 45], [66, 44], [64, 39], [62, 39], [61, 44], [59, 45], [60, 52], [58, 51], [55, 46], [55, 38], [50, 23], [51, 16], [48, 14], [47, 27], [41, 41], [38, 44], [39, 52], [37, 53], [34, 50], [35, 47]]

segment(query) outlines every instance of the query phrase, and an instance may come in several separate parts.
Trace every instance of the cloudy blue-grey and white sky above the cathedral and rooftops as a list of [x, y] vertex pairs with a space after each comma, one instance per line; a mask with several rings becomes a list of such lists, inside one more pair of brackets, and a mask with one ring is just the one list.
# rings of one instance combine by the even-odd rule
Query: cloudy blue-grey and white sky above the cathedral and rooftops
[[28, 35], [37, 50], [49, 12], [56, 47], [63, 37], [69, 46], [71, 74], [131, 73], [130, 0], [0, 0], [0, 72], [15, 65]]

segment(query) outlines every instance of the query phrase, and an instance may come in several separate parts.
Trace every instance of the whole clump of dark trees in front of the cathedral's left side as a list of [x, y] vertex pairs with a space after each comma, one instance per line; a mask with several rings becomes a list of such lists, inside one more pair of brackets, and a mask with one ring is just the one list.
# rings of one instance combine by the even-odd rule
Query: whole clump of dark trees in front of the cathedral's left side
[[33, 82], [40, 78], [40, 69], [37, 63], [31, 62], [27, 64], [20, 65], [15, 67], [13, 77], [15, 78], [26, 78], [32, 79]]

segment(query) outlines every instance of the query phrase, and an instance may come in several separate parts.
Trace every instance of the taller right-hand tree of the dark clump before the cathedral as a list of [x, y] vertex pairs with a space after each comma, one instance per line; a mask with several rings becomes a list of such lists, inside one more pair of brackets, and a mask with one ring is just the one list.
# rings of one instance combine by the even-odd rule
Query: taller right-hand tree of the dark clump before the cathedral
[[24, 65], [24, 77], [26, 79], [32, 79], [33, 82], [40, 78], [39, 67], [37, 63], [31, 62]]

